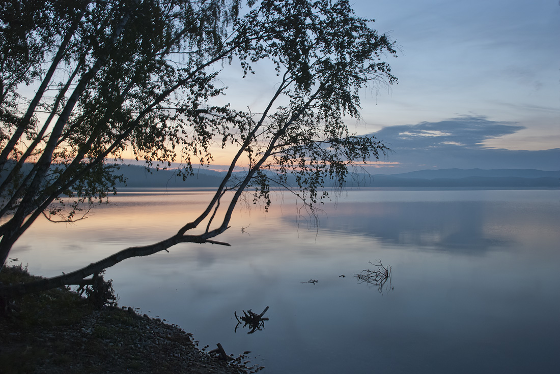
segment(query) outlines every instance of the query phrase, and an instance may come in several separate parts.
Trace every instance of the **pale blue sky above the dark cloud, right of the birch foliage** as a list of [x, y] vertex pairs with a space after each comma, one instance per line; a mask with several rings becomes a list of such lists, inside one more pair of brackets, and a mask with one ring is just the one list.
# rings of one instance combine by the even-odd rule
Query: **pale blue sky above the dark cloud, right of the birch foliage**
[[560, 146], [558, 1], [360, 0], [354, 9], [402, 48], [391, 61], [400, 82], [364, 102], [366, 123], [486, 116], [526, 127], [487, 146]]

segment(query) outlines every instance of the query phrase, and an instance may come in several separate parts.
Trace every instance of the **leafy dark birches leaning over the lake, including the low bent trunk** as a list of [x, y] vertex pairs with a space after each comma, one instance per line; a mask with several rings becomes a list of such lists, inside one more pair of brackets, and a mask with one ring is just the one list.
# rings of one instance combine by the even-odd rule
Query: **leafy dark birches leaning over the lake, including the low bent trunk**
[[[9, 0], [0, 5], [0, 260], [39, 216], [80, 219], [115, 193], [123, 152], [156, 168], [212, 162], [235, 150], [212, 201], [159, 243], [0, 295], [82, 283], [123, 259], [178, 243], [213, 243], [244, 193], [270, 204], [284, 186], [311, 209], [385, 145], [351, 134], [360, 90], [394, 83], [394, 44], [346, 0]], [[226, 64], [272, 61], [278, 83], [262, 112], [213, 105]], [[27, 94], [29, 92], [32, 94]], [[234, 173], [240, 164], [244, 172]], [[297, 187], [288, 185], [295, 176]], [[227, 193], [227, 202], [224, 196]], [[231, 199], [231, 200], [230, 200]], [[190, 234], [201, 227], [202, 233]]]

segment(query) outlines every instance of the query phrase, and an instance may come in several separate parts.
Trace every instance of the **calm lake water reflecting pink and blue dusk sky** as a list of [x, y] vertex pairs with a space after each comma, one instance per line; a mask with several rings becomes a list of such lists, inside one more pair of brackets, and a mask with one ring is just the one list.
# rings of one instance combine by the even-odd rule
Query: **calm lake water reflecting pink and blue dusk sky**
[[[54, 276], [167, 238], [211, 190], [125, 190], [72, 225], [38, 220], [11, 258]], [[318, 226], [291, 196], [241, 204], [217, 240], [106, 272], [119, 305], [263, 373], [527, 373], [560, 367], [560, 191], [347, 191]], [[381, 288], [356, 274], [392, 268]], [[370, 263], [371, 262], [371, 263]], [[344, 276], [344, 277], [343, 277]], [[316, 281], [316, 282], [310, 282]], [[234, 311], [265, 314], [235, 328]]]

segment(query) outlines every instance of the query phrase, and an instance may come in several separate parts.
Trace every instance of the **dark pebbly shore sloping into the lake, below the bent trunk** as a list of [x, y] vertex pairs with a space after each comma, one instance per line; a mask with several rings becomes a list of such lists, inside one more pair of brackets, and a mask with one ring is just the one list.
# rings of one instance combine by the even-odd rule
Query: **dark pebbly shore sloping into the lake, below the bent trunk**
[[[6, 269], [0, 275], [5, 277]], [[199, 349], [192, 334], [179, 326], [138, 315], [130, 307], [97, 310], [67, 289], [26, 295], [6, 311], [0, 317], [0, 373], [239, 374], [262, 369], [251, 365], [249, 352], [224, 359]]]

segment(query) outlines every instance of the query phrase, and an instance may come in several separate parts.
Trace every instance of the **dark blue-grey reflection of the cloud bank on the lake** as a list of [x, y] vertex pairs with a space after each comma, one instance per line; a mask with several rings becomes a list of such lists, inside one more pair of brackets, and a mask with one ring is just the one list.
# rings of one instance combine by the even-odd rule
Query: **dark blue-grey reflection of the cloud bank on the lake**
[[[486, 230], [488, 202], [339, 203], [320, 230], [374, 236], [389, 244], [487, 252], [514, 239]], [[290, 220], [284, 217], [284, 220]]]

